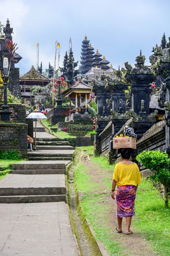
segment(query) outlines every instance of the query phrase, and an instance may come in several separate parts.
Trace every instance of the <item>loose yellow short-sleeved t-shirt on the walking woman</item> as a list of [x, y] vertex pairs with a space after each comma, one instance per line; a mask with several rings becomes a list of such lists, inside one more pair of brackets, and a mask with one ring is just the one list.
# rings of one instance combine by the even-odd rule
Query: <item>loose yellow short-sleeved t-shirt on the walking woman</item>
[[140, 171], [136, 163], [117, 163], [113, 172], [113, 180], [117, 186], [134, 185], [141, 183]]

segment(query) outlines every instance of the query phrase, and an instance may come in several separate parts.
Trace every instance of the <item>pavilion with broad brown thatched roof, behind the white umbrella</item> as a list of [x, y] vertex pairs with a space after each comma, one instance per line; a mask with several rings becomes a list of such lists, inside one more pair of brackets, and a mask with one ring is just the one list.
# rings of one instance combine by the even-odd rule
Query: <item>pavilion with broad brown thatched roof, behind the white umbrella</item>
[[24, 102], [31, 102], [31, 97], [34, 96], [33, 94], [31, 95], [32, 86], [39, 85], [45, 87], [48, 83], [49, 79], [32, 66], [31, 70], [20, 77], [21, 97], [24, 99]]

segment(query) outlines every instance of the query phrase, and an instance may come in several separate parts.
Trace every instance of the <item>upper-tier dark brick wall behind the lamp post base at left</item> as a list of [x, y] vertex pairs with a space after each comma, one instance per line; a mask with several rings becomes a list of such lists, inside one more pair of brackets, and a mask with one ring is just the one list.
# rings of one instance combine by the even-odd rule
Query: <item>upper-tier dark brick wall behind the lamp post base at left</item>
[[[3, 104], [0, 104], [0, 108]], [[22, 104], [8, 104], [11, 113], [11, 122], [26, 122], [26, 106]]]

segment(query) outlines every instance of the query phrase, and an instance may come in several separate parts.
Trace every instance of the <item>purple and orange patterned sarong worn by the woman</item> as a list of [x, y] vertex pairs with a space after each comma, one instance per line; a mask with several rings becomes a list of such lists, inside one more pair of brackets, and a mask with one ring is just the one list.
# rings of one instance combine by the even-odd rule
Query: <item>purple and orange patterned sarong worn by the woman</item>
[[116, 203], [117, 212], [116, 217], [132, 217], [135, 215], [135, 198], [136, 191], [135, 186], [117, 186]]

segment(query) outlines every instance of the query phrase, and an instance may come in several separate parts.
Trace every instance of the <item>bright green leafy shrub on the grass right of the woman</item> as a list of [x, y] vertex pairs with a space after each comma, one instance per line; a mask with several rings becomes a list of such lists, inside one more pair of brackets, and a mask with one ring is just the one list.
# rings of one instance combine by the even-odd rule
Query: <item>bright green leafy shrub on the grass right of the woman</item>
[[143, 151], [136, 157], [136, 160], [154, 173], [154, 175], [150, 175], [150, 179], [154, 183], [164, 185], [165, 206], [168, 208], [170, 198], [170, 158], [168, 158], [168, 154], [161, 153], [159, 150]]

